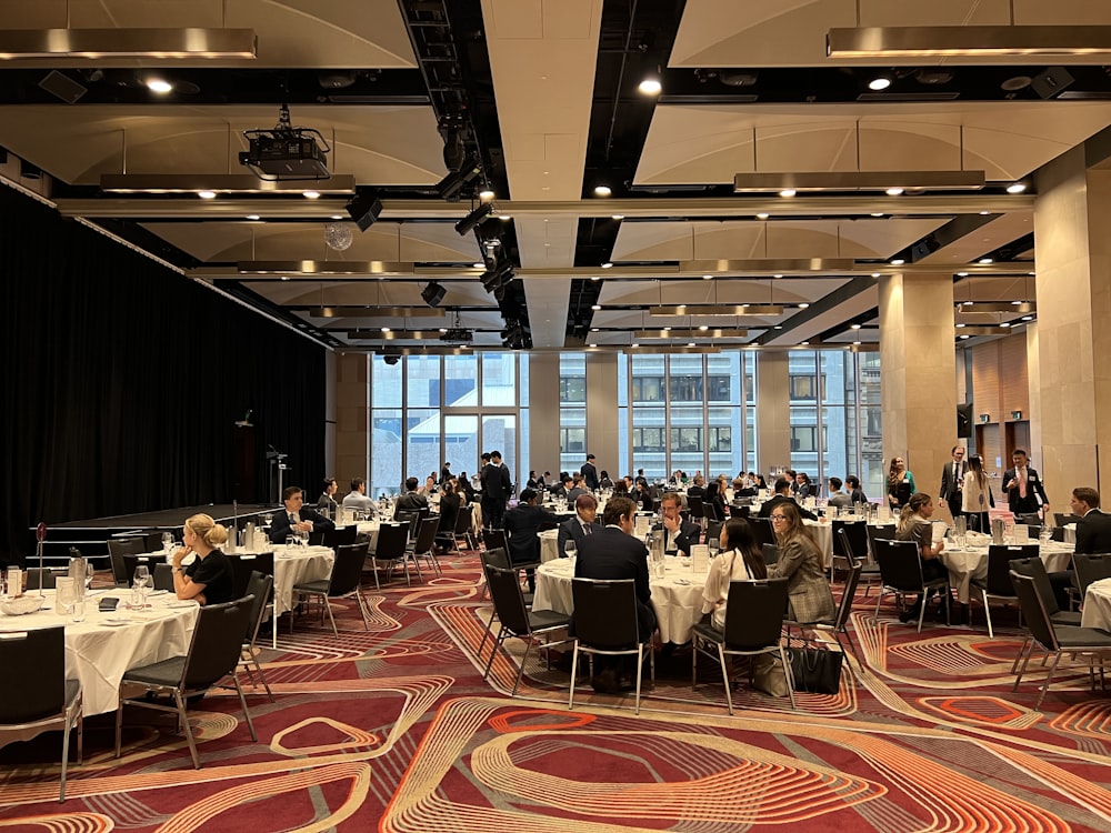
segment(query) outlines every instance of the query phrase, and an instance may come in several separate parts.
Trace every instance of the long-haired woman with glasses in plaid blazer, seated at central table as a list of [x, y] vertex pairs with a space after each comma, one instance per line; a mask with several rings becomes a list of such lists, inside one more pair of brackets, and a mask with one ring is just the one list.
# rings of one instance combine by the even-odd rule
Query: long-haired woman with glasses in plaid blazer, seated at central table
[[769, 579], [788, 579], [791, 619], [799, 623], [832, 619], [833, 594], [825, 580], [822, 550], [802, 522], [794, 501], [777, 503], [771, 525], [779, 544], [779, 560], [768, 568]]

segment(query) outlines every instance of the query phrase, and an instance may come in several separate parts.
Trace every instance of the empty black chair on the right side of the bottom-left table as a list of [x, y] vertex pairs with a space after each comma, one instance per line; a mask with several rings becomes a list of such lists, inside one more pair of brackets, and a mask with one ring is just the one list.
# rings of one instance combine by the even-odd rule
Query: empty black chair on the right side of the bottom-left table
[[[228, 688], [234, 688], [239, 694], [239, 704], [247, 719], [251, 740], [258, 741], [254, 723], [247, 709], [247, 697], [239, 685], [236, 669], [239, 665], [243, 648], [243, 634], [251, 618], [253, 596], [244, 596], [223, 604], [209, 604], [200, 609], [197, 625], [193, 628], [189, 649], [182, 656], [131, 669], [120, 680], [120, 704], [116, 710], [116, 756], [120, 756], [120, 743], [123, 735], [123, 706], [132, 705], [140, 709], [154, 709], [160, 712], [174, 712], [178, 724], [184, 732], [189, 744], [189, 754], [193, 767], [200, 769], [201, 762], [197, 754], [197, 743], [189, 727], [189, 715], [186, 712], [186, 701], [194, 694], [203, 694], [222, 680], [231, 681]], [[142, 691], [134, 692], [139, 688]], [[124, 692], [129, 692], [124, 694]], [[173, 697], [173, 705], [166, 705], [158, 700], [147, 697], [147, 693], [168, 694]]]

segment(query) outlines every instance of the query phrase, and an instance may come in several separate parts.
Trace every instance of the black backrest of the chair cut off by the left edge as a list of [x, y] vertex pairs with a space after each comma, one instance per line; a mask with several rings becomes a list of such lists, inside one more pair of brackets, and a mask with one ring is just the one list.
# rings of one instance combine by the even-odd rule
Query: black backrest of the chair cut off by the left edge
[[66, 629], [0, 633], [0, 724], [33, 723], [66, 704]]

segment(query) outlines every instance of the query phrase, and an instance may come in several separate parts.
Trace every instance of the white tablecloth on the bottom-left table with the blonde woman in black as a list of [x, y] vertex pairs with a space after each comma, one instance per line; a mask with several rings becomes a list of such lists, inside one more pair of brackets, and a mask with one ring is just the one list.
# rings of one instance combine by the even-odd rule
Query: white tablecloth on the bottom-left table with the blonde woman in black
[[[128, 590], [97, 591], [86, 598], [83, 622], [60, 615], [54, 610], [52, 591], [47, 591], [49, 610], [22, 616], [0, 614], [0, 631], [31, 631], [66, 626], [66, 676], [80, 680], [84, 693], [84, 713], [114, 712], [119, 705], [120, 680], [129, 669], [181, 656], [189, 650], [200, 606], [181, 602], [172, 593], [151, 594], [150, 608], [130, 611], [122, 605], [130, 600]], [[114, 596], [118, 610], [102, 613], [100, 600]], [[173, 606], [170, 606], [173, 605]], [[128, 620], [108, 624], [108, 620]], [[8, 680], [6, 684], [13, 684]]]

